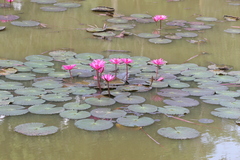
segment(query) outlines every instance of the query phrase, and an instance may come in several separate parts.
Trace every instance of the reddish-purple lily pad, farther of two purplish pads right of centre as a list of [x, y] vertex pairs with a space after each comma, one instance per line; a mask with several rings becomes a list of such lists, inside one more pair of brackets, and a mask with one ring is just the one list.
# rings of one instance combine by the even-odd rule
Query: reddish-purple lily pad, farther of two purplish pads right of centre
[[157, 92], [158, 95], [163, 97], [185, 97], [189, 96], [189, 93], [180, 89], [161, 89]]

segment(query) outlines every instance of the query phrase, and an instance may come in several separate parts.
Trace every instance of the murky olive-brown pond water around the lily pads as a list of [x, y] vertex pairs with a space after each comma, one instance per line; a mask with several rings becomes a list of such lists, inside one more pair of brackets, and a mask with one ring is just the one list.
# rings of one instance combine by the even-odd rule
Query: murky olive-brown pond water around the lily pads
[[[98, 53], [108, 57], [115, 52], [106, 50], [130, 51], [130, 56], [145, 56], [151, 59], [163, 58], [168, 64], [182, 64], [189, 60], [199, 66], [207, 67], [209, 64], [226, 64], [240, 70], [239, 59], [239, 34], [226, 33], [224, 30], [231, 26], [240, 26], [240, 21], [226, 21], [224, 15], [238, 16], [240, 13], [239, 1], [219, 0], [180, 0], [180, 1], [156, 1], [156, 0], [85, 0], [73, 1], [81, 4], [81, 7], [70, 8], [64, 12], [45, 12], [40, 9], [52, 4], [38, 4], [30, 0], [19, 0], [21, 9], [0, 8], [0, 15], [18, 15], [20, 21], [33, 20], [46, 24], [46, 28], [18, 27], [10, 22], [0, 23], [6, 26], [1, 31], [0, 57], [25, 61], [29, 55], [48, 55], [47, 51], [68, 49], [75, 53]], [[58, 1], [64, 2], [64, 1]], [[198, 34], [196, 38], [182, 38], [173, 40], [169, 44], [153, 44], [145, 38], [128, 36], [125, 38], [112, 37], [104, 40], [92, 36], [86, 32], [88, 25], [102, 27], [111, 17], [99, 15], [91, 9], [97, 6], [115, 8], [115, 13], [130, 16], [131, 14], [164, 14], [168, 19], [163, 21], [161, 34], [186, 32], [183, 28], [167, 29], [167, 22], [173, 20], [185, 20], [196, 22], [197, 17], [215, 17], [217, 21], [205, 22], [212, 26], [211, 29], [190, 31]], [[198, 21], [203, 22], [203, 21]], [[127, 30], [134, 34], [156, 32], [159, 26], [155, 23], [138, 23], [135, 28]], [[188, 31], [187, 31], [188, 32]], [[118, 32], [120, 33], [120, 32]], [[192, 44], [186, 40], [205, 40], [206, 43]], [[119, 52], [117, 52], [119, 53]], [[202, 54], [206, 53], [206, 54]], [[212, 62], [212, 63], [211, 63]], [[59, 70], [65, 63], [56, 62]], [[5, 78], [2, 78], [6, 80]], [[75, 79], [75, 81], [81, 80]], [[30, 86], [33, 82], [24, 82]], [[196, 84], [190, 82], [192, 87]], [[230, 87], [230, 90], [238, 90]], [[146, 98], [148, 104], [158, 107], [165, 106], [163, 99], [157, 96], [159, 89], [154, 88], [149, 92], [133, 93]], [[85, 159], [85, 160], [237, 160], [240, 159], [238, 148], [240, 147], [240, 128], [235, 120], [222, 119], [211, 115], [211, 111], [219, 108], [202, 102], [198, 97], [190, 97], [198, 100], [200, 104], [188, 108], [190, 113], [181, 117], [194, 122], [187, 123], [183, 120], [167, 117], [163, 114], [150, 115], [148, 117], [160, 119], [153, 125], [139, 128], [117, 127], [100, 131], [90, 132], [77, 128], [74, 120], [66, 120], [59, 115], [37, 115], [28, 113], [22, 116], [10, 116], [0, 119], [0, 159], [23, 160], [23, 159]], [[168, 98], [164, 98], [168, 99]], [[237, 99], [237, 98], [236, 98]], [[61, 106], [63, 103], [56, 103]], [[110, 108], [121, 107], [121, 104]], [[93, 107], [96, 108], [96, 107]], [[177, 117], [177, 116], [176, 116]], [[211, 124], [202, 124], [199, 119], [208, 118], [214, 120]], [[59, 127], [59, 131], [48, 136], [25, 136], [14, 132], [17, 125], [30, 122], [40, 122]], [[198, 130], [201, 135], [190, 140], [174, 140], [165, 138], [157, 133], [164, 127], [190, 127]], [[148, 135], [160, 143], [155, 143]]]

